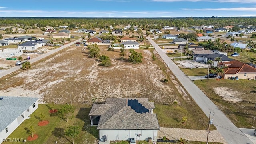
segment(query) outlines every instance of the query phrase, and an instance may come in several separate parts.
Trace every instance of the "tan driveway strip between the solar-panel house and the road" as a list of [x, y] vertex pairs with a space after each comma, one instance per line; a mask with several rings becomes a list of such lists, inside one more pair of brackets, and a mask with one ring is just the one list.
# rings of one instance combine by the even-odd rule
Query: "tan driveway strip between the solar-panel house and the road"
[[[222, 137], [218, 130], [213, 130], [210, 132], [208, 142], [221, 142], [223, 144], [227, 144], [226, 140]], [[158, 130], [158, 138], [163, 138], [164, 136], [170, 140], [179, 140], [180, 138], [184, 138], [188, 141], [206, 142], [207, 131], [160, 127], [160, 130]]]

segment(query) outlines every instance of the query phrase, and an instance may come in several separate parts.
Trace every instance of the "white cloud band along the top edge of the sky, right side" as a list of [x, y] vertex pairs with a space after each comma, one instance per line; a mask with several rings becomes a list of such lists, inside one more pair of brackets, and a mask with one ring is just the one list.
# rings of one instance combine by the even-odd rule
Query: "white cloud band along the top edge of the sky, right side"
[[255, 0], [153, 0], [156, 2], [200, 2], [200, 1], [208, 1], [208, 2], [225, 2], [225, 3], [255, 3]]

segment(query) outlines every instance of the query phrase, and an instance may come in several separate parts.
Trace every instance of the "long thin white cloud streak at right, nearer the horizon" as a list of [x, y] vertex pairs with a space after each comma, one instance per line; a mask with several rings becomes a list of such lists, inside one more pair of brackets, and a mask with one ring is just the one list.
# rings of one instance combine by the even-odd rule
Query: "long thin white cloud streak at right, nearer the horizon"
[[183, 10], [188, 11], [246, 11], [246, 12], [255, 12], [255, 8], [197, 8], [197, 9], [189, 9], [183, 8]]

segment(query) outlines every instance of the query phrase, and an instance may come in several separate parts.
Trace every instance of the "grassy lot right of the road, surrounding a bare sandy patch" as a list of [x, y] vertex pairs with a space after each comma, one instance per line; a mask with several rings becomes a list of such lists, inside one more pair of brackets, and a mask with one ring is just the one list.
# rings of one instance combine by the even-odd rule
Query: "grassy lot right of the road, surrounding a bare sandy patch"
[[[217, 81], [215, 79], [207, 80], [195, 80], [194, 83], [226, 114], [226, 116], [238, 127], [238, 128], [252, 128], [256, 126], [255, 116], [255, 97], [256, 93], [252, 92], [256, 86], [255, 80], [229, 80], [221, 79]], [[241, 98], [241, 102], [229, 102], [223, 100], [218, 94], [215, 93], [214, 88], [225, 87], [232, 91], [237, 91], [240, 94], [234, 94], [234, 96]]]

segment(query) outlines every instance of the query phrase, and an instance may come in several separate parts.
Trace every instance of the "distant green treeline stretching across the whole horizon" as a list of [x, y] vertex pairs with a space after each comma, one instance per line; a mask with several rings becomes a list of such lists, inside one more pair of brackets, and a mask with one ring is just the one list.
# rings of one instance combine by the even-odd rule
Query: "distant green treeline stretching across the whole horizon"
[[[0, 26], [36, 26], [58, 27], [69, 26], [70, 28], [104, 28], [107, 26], [131, 26], [139, 25], [146, 28], [191, 27], [200, 25], [214, 25], [224, 27], [229, 25], [253, 25], [256, 26], [256, 17], [196, 17], [196, 18], [57, 18], [57, 17], [1, 17]], [[35, 25], [36, 24], [36, 25]]]

